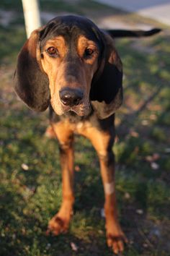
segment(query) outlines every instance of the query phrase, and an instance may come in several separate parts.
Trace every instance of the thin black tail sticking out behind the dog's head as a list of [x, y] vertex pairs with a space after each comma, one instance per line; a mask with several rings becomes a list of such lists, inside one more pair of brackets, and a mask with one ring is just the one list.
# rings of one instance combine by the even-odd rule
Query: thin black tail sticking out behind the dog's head
[[104, 30], [109, 33], [112, 38], [140, 38], [145, 36], [155, 35], [161, 32], [160, 28], [153, 28], [152, 30]]

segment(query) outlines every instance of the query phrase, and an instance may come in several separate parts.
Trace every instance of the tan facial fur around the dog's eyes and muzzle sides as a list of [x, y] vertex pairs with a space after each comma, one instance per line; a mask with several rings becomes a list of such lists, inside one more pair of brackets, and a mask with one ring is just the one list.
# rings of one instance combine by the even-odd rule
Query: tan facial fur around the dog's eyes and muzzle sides
[[[46, 50], [52, 46], [58, 50], [57, 58], [51, 58], [46, 52]], [[86, 116], [89, 114], [90, 85], [94, 73], [97, 71], [97, 56], [99, 51], [97, 49], [97, 45], [93, 41], [82, 35], [80, 35], [75, 48], [77, 51], [77, 58], [76, 62], [72, 64], [73, 74], [70, 71], [68, 73], [67, 57], [69, 48], [62, 36], [48, 40], [42, 51], [42, 69], [46, 74], [48, 74], [48, 79], [50, 81], [50, 102], [55, 113], [58, 115], [63, 114], [66, 110], [59, 98], [59, 90], [67, 85], [69, 85], [70, 88], [81, 88], [84, 90], [84, 99], [76, 111], [80, 116]], [[84, 60], [84, 51], [86, 48], [93, 49], [94, 54], [91, 59]], [[79, 73], [77, 74], [74, 72], [76, 69], [79, 69]]]

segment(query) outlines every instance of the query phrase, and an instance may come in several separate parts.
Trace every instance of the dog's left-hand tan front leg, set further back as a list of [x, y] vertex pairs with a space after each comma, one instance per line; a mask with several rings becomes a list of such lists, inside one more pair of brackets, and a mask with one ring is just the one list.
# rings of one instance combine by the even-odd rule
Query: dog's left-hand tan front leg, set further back
[[63, 201], [58, 213], [49, 221], [48, 233], [66, 233], [73, 213], [73, 132], [60, 123], [53, 125], [60, 144]]

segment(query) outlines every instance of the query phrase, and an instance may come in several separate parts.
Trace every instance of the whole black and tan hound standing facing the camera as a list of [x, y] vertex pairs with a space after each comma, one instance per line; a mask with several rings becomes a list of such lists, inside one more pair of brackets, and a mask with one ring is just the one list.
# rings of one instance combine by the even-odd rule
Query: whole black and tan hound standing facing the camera
[[104, 186], [107, 244], [122, 252], [127, 242], [117, 218], [115, 111], [122, 103], [122, 63], [114, 37], [147, 36], [159, 30], [100, 30], [76, 16], [56, 17], [32, 32], [19, 53], [15, 90], [35, 111], [50, 106], [50, 124], [58, 138], [63, 179], [61, 209], [48, 232], [66, 232], [73, 212], [73, 135], [91, 140], [99, 156]]

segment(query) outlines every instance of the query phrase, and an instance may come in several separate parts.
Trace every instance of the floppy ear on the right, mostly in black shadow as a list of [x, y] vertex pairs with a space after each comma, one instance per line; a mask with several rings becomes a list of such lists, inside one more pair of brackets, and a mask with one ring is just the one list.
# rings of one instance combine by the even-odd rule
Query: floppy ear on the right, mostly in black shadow
[[[99, 119], [106, 119], [122, 104], [122, 62], [114, 46], [114, 40], [104, 36], [104, 57], [97, 71], [97, 80], [91, 85], [91, 105]], [[102, 69], [102, 70], [101, 70]], [[95, 82], [96, 80], [96, 82]]]

